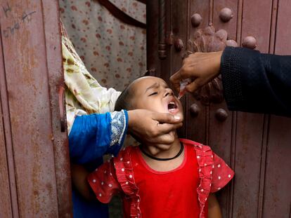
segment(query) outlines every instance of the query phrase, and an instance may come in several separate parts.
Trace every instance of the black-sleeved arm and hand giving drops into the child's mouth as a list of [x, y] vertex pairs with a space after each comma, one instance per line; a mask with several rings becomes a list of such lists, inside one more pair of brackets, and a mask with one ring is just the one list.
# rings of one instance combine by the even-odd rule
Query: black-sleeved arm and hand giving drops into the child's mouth
[[228, 109], [291, 116], [290, 72], [289, 55], [226, 47], [189, 55], [171, 81], [178, 88], [181, 79], [191, 78], [187, 90], [194, 92], [221, 73]]

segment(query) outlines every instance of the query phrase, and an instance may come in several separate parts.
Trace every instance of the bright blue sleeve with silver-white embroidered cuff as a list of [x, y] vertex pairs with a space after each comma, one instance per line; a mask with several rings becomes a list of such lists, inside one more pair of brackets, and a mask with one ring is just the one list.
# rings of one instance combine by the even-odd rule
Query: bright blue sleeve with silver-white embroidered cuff
[[116, 156], [127, 133], [127, 111], [77, 116], [69, 135], [73, 163], [96, 161], [104, 154]]

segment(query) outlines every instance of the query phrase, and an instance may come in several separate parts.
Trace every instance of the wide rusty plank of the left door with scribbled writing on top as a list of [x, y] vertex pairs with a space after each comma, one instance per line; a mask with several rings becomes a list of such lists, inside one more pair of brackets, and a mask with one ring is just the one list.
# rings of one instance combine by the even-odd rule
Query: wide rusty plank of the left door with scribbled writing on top
[[41, 1], [4, 4], [11, 7], [0, 22], [19, 214], [58, 217]]

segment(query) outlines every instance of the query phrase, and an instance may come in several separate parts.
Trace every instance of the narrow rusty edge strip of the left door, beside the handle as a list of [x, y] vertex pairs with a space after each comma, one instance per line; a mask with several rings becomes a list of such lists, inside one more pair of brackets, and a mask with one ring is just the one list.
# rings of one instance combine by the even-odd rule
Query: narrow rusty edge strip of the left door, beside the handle
[[[59, 217], [72, 217], [72, 187], [67, 131], [65, 128], [62, 132], [60, 127], [60, 107], [63, 107], [63, 111], [65, 111], [65, 104], [56, 104], [60, 87], [65, 87], [58, 1], [42, 1], [42, 4], [44, 8], [46, 60], [58, 191], [58, 215]], [[64, 96], [63, 102], [65, 102]], [[65, 114], [63, 116], [65, 118]]]

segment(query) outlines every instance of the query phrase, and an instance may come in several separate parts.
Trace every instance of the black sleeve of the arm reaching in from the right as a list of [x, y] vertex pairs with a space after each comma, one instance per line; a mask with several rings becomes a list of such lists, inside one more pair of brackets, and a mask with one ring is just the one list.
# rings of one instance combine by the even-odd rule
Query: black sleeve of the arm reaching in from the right
[[221, 76], [228, 109], [291, 116], [291, 56], [226, 47]]

